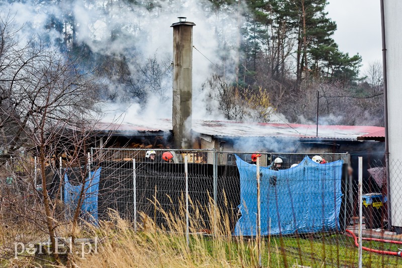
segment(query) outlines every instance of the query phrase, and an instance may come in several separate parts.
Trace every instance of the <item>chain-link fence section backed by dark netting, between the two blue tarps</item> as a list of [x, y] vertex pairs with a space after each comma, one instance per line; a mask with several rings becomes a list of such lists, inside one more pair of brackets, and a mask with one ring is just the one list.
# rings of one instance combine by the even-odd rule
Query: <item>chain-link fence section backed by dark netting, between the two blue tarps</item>
[[[154, 156], [147, 157], [147, 151]], [[144, 224], [140, 214], [159, 226], [166, 225], [164, 213], [185, 221], [180, 209], [185, 204], [187, 178], [189, 213], [198, 215], [200, 226], [209, 221], [206, 208], [214, 192], [213, 150], [171, 150], [169, 161], [162, 159], [166, 150], [92, 149], [92, 152], [92, 168], [102, 168], [100, 218], [105, 219], [107, 211], [114, 209], [123, 218], [140, 224]]]

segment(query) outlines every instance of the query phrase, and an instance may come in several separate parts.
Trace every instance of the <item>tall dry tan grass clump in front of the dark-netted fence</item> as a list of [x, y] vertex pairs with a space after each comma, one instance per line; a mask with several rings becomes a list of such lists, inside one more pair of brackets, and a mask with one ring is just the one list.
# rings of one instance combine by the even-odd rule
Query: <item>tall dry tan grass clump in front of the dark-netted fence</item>
[[[74, 256], [79, 267], [255, 267], [258, 265], [257, 244], [254, 239], [233, 237], [230, 216], [215, 209], [200, 211], [192, 204], [194, 212], [189, 218], [189, 246], [185, 237], [185, 210], [178, 214], [158, 208], [165, 224], [156, 224], [149, 215], [141, 214], [138, 231], [132, 223], [111, 211], [110, 221], [100, 222], [92, 228], [92, 235], [100, 239], [98, 253], [85, 258]], [[204, 216], [202, 216], [204, 215]], [[207, 215], [207, 217], [205, 217]], [[233, 216], [233, 215], [232, 215]], [[200, 230], [211, 230], [210, 235]], [[209, 231], [207, 231], [209, 232]], [[262, 243], [264, 250], [265, 242]], [[269, 263], [277, 266], [279, 263]]]

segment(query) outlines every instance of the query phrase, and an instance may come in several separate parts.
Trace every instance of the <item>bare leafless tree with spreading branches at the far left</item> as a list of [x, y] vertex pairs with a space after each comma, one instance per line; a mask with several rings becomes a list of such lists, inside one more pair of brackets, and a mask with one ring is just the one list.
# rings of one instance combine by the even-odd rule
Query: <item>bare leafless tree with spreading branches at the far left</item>
[[[38, 210], [43, 211], [40, 222], [46, 226], [53, 255], [60, 263], [54, 247], [59, 225], [55, 219], [57, 202], [49, 195], [45, 170], [63, 152], [70, 156], [68, 165], [80, 166], [80, 159], [85, 159], [86, 146], [100, 114], [97, 83], [90, 73], [76, 68], [76, 61], [44, 46], [35, 37], [25, 40], [20, 31], [12, 17], [0, 17], [2, 146], [9, 154], [22, 147], [31, 148], [37, 156], [42, 182], [38, 197], [43, 202], [43, 208]], [[56, 196], [60, 191], [59, 187]]]

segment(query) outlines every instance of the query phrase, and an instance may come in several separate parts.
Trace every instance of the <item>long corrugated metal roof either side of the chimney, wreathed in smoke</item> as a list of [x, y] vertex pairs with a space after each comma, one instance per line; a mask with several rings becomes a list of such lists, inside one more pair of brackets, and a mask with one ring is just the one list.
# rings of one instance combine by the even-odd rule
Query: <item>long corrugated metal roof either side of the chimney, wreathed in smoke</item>
[[[172, 129], [171, 119], [141, 119], [135, 123], [99, 123], [96, 130], [116, 131], [135, 135], [136, 132], [163, 131]], [[192, 130], [199, 134], [213, 137], [277, 137], [295, 139], [317, 139], [316, 125], [285, 124], [285, 123], [255, 123], [235, 121], [192, 120]], [[381, 133], [383, 127], [355, 125], [319, 125], [318, 138], [328, 140], [353, 140], [370, 133]], [[138, 133], [138, 135], [141, 135]]]

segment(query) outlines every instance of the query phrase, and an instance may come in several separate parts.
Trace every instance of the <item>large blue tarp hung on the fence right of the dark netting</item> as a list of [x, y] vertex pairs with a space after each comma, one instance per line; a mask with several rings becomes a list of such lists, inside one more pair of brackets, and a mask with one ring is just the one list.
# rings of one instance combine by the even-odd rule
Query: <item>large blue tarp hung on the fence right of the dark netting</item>
[[[256, 165], [236, 156], [240, 173], [239, 209], [235, 235], [254, 236], [257, 230]], [[317, 164], [309, 157], [296, 167], [274, 171], [260, 168], [261, 234], [312, 233], [339, 230], [342, 164]]]

